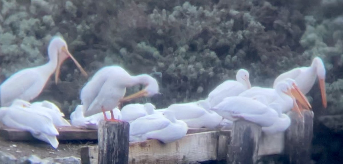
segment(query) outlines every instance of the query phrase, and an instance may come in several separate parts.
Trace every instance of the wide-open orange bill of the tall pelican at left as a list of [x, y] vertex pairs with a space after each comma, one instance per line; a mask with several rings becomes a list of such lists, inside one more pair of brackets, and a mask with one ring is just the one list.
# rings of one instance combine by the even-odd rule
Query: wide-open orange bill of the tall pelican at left
[[66, 60], [68, 57], [70, 57], [75, 65], [79, 68], [79, 70], [81, 71], [81, 73], [85, 76], [85, 77], [88, 77], [86, 71], [82, 68], [82, 66], [80, 65], [80, 63], [73, 57], [73, 55], [71, 55], [68, 51], [68, 49], [66, 47], [62, 47], [62, 51], [67, 55], [67, 57], [64, 55], [64, 54], [58, 54], [58, 62], [57, 62], [57, 68], [56, 68], [56, 71], [55, 71], [55, 83], [57, 84], [58, 83], [58, 77], [60, 75], [60, 68], [61, 68], [61, 65], [62, 63], [64, 62], [64, 60]]

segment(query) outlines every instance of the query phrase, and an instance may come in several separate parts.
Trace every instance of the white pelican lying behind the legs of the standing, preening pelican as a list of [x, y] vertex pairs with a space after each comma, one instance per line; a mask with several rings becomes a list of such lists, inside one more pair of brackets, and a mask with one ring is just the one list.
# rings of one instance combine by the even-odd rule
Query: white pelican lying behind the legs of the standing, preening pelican
[[[113, 114], [115, 119], [121, 120], [121, 114], [118, 108], [113, 109]], [[111, 117], [110, 111], [106, 111], [106, 117]], [[101, 120], [104, 120], [103, 113], [84, 117], [82, 105], [76, 106], [75, 110], [70, 114], [71, 125], [78, 128], [97, 129], [98, 123]]]

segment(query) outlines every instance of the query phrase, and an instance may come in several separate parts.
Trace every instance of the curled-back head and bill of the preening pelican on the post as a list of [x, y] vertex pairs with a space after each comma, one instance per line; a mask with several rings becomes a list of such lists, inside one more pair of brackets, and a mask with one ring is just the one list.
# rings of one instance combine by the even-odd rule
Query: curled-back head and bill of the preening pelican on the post
[[135, 81], [134, 83], [136, 82], [141, 83], [141, 84], [144, 84], [146, 87], [139, 92], [126, 96], [120, 102], [130, 101], [132, 99], [137, 99], [143, 96], [151, 97], [155, 94], [161, 94], [159, 93], [157, 80], [151, 77], [150, 75], [142, 74], [142, 75], [135, 76], [132, 79]]

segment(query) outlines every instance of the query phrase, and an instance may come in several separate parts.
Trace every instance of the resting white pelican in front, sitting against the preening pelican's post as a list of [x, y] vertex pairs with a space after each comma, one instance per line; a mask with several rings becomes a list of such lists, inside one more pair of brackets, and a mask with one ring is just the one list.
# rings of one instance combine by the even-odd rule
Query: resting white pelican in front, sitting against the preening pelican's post
[[147, 115], [130, 123], [130, 142], [157, 139], [171, 143], [187, 134], [188, 127], [184, 121], [177, 120], [172, 111]]

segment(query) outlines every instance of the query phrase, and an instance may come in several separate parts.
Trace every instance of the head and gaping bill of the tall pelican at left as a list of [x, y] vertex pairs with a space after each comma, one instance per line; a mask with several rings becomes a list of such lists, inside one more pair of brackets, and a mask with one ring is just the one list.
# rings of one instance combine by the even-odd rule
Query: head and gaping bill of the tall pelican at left
[[60, 36], [54, 36], [51, 39], [51, 41], [49, 43], [49, 47], [48, 47], [48, 54], [49, 54], [50, 59], [56, 58], [56, 56], [54, 56], [54, 54], [57, 54], [57, 68], [55, 71], [55, 83], [56, 84], [58, 82], [58, 77], [60, 74], [61, 65], [64, 62], [64, 60], [66, 60], [69, 57], [74, 61], [76, 66], [80, 69], [81, 73], [85, 77], [88, 76], [86, 71], [83, 70], [82, 66], [79, 64], [79, 62], [76, 61], [76, 59], [69, 53], [68, 45], [67, 45], [66, 41], [64, 41], [64, 39], [61, 38]]

